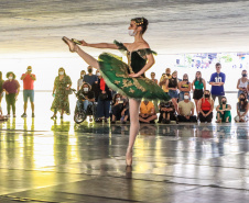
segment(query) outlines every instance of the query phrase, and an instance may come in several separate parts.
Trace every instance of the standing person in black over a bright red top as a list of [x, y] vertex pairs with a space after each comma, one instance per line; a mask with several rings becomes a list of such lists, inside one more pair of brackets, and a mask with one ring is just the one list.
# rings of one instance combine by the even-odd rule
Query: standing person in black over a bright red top
[[107, 123], [107, 120], [110, 117], [110, 101], [111, 101], [111, 91], [106, 84], [104, 78], [99, 76], [98, 83], [98, 105], [97, 105], [97, 120], [96, 122]]

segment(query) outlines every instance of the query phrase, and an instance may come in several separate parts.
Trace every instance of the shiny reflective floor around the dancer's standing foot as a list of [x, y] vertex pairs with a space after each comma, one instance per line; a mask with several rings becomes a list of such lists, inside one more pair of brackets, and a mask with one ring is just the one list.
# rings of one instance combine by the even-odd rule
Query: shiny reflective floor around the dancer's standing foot
[[0, 203], [248, 202], [248, 124], [0, 123]]

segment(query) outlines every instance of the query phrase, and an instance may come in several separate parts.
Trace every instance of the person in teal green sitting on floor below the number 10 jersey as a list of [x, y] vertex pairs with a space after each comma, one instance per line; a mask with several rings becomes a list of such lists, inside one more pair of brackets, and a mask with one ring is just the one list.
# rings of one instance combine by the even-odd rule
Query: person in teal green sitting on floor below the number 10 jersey
[[216, 108], [217, 111], [217, 121], [216, 123], [230, 123], [231, 122], [231, 113], [230, 113], [231, 106], [227, 104], [227, 98], [221, 98], [221, 104]]

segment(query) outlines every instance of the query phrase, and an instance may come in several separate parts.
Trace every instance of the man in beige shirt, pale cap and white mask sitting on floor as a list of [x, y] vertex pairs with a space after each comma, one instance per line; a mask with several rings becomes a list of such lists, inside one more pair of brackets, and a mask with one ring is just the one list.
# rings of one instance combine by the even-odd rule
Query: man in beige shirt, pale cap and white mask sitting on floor
[[195, 104], [190, 101], [190, 93], [184, 93], [184, 100], [178, 102], [178, 122], [197, 122], [194, 115]]

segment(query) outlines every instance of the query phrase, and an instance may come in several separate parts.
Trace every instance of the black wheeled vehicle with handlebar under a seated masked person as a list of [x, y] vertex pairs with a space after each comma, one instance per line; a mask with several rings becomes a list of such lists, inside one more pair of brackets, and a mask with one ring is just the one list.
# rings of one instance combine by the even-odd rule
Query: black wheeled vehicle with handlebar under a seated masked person
[[[79, 99], [76, 90], [73, 90], [73, 92], [75, 93], [76, 98]], [[84, 99], [83, 95], [80, 95], [80, 99]], [[75, 123], [79, 124], [79, 123], [84, 122], [87, 119], [88, 115], [93, 115], [93, 119], [95, 120], [96, 111], [97, 111], [97, 103], [96, 102], [93, 102], [93, 104], [88, 104], [87, 110], [84, 110], [83, 104], [80, 104], [79, 108], [76, 105], [75, 112], [74, 112]]]

